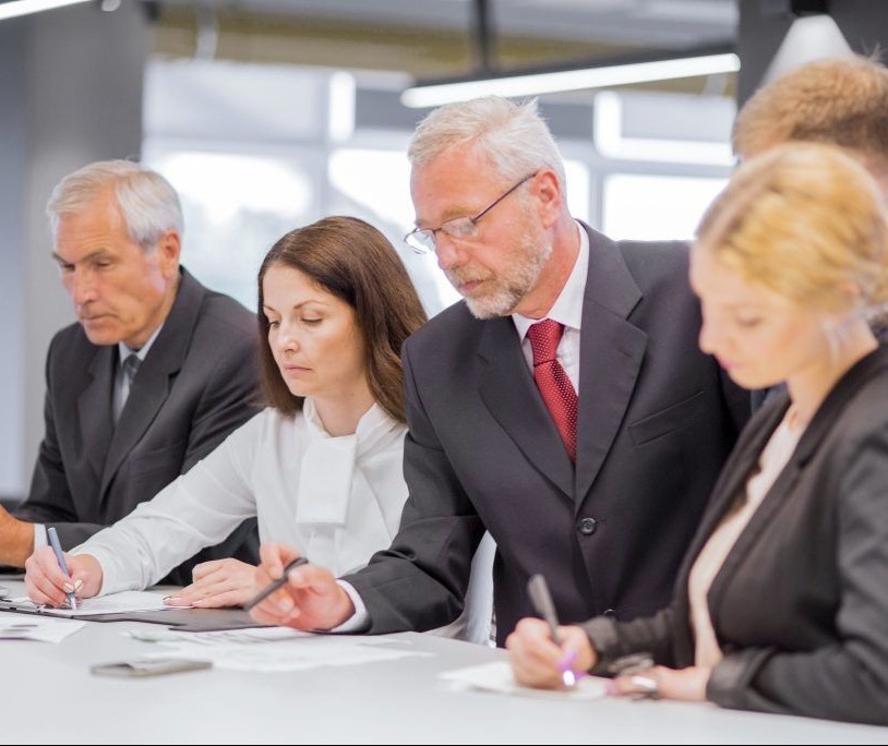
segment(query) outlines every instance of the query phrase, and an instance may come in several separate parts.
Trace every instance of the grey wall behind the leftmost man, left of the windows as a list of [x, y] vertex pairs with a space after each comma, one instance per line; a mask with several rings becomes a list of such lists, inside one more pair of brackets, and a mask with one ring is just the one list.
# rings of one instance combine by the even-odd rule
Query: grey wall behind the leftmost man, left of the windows
[[43, 361], [73, 321], [44, 205], [65, 173], [137, 157], [147, 23], [139, 3], [0, 22], [0, 495], [24, 494], [43, 434]]

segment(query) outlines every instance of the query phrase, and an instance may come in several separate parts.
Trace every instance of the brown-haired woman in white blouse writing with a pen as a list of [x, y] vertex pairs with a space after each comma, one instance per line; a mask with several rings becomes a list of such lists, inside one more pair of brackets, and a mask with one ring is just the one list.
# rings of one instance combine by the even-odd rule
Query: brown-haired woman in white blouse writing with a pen
[[[151, 586], [256, 516], [263, 543], [299, 546], [343, 574], [397, 531], [407, 486], [400, 346], [425, 322], [387, 239], [357, 218], [292, 230], [259, 273], [259, 327], [268, 408], [154, 500], [68, 555], [27, 561], [37, 603]], [[172, 605], [232, 606], [255, 568], [199, 565]]]

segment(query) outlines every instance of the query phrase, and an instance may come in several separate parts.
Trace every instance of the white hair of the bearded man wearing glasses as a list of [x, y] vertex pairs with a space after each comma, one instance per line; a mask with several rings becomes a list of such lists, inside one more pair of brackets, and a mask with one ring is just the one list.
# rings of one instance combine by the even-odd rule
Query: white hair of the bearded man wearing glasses
[[500, 96], [447, 104], [417, 127], [407, 156], [421, 166], [451, 147], [470, 143], [505, 180], [517, 181], [542, 168], [551, 169], [566, 188], [564, 161], [537, 99], [514, 104]]

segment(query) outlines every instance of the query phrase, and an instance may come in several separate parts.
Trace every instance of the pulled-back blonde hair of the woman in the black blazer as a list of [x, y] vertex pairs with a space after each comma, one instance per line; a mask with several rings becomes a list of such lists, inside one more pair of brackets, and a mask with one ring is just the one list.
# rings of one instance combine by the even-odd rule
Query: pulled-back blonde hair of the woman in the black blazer
[[742, 165], [706, 212], [695, 250], [746, 281], [827, 313], [849, 304], [884, 313], [888, 215], [878, 188], [837, 147], [788, 143]]

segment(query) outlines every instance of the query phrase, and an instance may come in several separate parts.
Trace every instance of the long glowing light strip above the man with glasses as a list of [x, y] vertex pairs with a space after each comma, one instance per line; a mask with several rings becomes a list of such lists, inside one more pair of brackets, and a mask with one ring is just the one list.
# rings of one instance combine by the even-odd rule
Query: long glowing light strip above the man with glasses
[[634, 62], [605, 68], [564, 70], [560, 72], [530, 73], [514, 77], [489, 77], [459, 83], [417, 85], [407, 88], [400, 101], [413, 109], [441, 106], [452, 101], [465, 101], [479, 96], [531, 96], [559, 91], [605, 88], [646, 81], [668, 81], [676, 77], [695, 77], [717, 73], [736, 72], [740, 58], [734, 53], [684, 57], [655, 62]]

